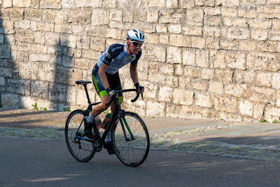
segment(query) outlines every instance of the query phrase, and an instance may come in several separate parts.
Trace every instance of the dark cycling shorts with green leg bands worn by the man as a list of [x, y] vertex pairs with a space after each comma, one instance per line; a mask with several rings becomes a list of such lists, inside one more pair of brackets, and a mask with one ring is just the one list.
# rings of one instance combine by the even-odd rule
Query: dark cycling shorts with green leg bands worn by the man
[[[106, 92], [106, 89], [104, 88], [104, 85], [102, 84], [99, 75], [98, 75], [99, 67], [97, 64], [94, 65], [92, 69], [92, 83], [94, 85], [95, 90], [97, 91], [97, 94], [99, 97], [102, 97], [104, 95], [108, 95]], [[118, 71], [115, 74], [106, 74], [109, 86], [112, 90], [122, 90], [122, 85], [120, 83], [120, 76], [118, 74]], [[123, 101], [123, 95], [119, 95], [118, 98], [121, 102]]]

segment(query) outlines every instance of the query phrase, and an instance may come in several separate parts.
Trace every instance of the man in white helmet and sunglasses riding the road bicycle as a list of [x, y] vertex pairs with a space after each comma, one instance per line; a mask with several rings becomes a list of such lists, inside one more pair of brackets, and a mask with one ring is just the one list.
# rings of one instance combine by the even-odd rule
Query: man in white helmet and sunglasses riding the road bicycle
[[[130, 76], [139, 93], [144, 92], [144, 87], [139, 85], [137, 74], [137, 62], [141, 57], [141, 46], [145, 41], [145, 36], [137, 29], [127, 32], [127, 41], [123, 43], [114, 43], [107, 48], [99, 57], [97, 64], [92, 69], [92, 82], [101, 99], [101, 103], [94, 106], [90, 116], [85, 117], [85, 135], [92, 138], [92, 125], [94, 117], [111, 107], [111, 113], [116, 109], [116, 104], [112, 102], [110, 106], [105, 104], [110, 102], [111, 97], [116, 97], [116, 90], [121, 90], [120, 76], [118, 70], [126, 64], [130, 64]], [[119, 95], [120, 102], [123, 101], [122, 95]], [[108, 152], [111, 151], [111, 131], [109, 131], [104, 147]], [[110, 152], [109, 152], [110, 153]]]

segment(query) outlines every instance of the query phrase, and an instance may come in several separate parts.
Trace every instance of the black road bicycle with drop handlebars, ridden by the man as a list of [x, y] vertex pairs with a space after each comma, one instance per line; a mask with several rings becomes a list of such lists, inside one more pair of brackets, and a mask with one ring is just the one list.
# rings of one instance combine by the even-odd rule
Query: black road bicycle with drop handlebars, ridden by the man
[[[117, 97], [112, 97], [111, 101], [106, 104], [109, 106], [111, 102], [116, 103], [116, 111], [113, 113], [111, 120], [106, 125], [102, 136], [97, 130], [96, 125], [92, 125], [92, 139], [88, 139], [85, 136], [84, 120], [85, 116], [89, 116], [92, 111], [92, 106], [101, 102], [90, 102], [90, 97], [87, 92], [87, 84], [91, 81], [76, 81], [77, 85], [83, 85], [85, 88], [85, 94], [87, 96], [87, 109], [85, 111], [76, 109], [72, 111], [65, 124], [64, 133], [66, 145], [76, 160], [79, 162], [87, 162], [91, 160], [95, 152], [102, 151], [102, 147], [105, 145], [105, 138], [109, 130], [111, 130], [111, 140], [113, 151], [118, 159], [123, 164], [130, 167], [137, 167], [141, 165], [147, 158], [150, 149], [150, 137], [148, 129], [144, 123], [144, 120], [130, 111], [121, 109], [120, 102]], [[123, 92], [137, 92], [137, 89], [117, 90], [117, 94]], [[143, 99], [143, 95], [142, 99]], [[136, 102], [139, 98], [137, 96], [131, 100]]]

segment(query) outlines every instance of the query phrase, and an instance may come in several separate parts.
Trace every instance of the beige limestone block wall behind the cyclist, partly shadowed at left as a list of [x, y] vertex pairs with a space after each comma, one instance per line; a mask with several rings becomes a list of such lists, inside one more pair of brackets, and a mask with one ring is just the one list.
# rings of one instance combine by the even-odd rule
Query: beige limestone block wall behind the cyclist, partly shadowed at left
[[[129, 29], [146, 35], [139, 62], [146, 116], [279, 120], [279, 0], [0, 0], [3, 107], [87, 105], [76, 80]], [[133, 86], [128, 67], [124, 88]], [[90, 85], [92, 101], [98, 100]], [[127, 95], [127, 99], [132, 97]]]

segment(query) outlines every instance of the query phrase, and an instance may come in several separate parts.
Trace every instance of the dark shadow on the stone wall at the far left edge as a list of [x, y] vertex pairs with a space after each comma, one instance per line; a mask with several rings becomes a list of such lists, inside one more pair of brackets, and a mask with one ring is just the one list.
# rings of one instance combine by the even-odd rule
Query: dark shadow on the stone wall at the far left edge
[[15, 44], [15, 30], [5, 29], [3, 19], [8, 18], [3, 18], [1, 11], [0, 15], [0, 107], [19, 109], [22, 107], [21, 96], [30, 94], [31, 80], [24, 81], [19, 75], [19, 64], [15, 63], [10, 47]]

